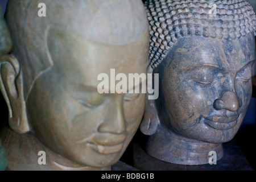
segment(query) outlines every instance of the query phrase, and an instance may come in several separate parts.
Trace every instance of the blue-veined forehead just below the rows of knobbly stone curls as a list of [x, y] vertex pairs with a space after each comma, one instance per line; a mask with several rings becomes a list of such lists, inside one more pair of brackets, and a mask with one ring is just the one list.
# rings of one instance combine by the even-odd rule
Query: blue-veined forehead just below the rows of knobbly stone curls
[[179, 69], [209, 64], [236, 71], [255, 59], [254, 35], [234, 40], [183, 38], [171, 49], [167, 59]]

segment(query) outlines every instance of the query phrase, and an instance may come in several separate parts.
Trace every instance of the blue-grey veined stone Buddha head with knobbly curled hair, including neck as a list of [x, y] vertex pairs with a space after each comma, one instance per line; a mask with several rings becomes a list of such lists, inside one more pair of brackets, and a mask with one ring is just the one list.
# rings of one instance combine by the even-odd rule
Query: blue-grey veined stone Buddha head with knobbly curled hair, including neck
[[251, 99], [254, 11], [242, 0], [148, 0], [146, 9], [149, 66], [159, 73], [141, 125], [146, 151], [176, 164], [207, 164], [210, 151], [220, 159]]

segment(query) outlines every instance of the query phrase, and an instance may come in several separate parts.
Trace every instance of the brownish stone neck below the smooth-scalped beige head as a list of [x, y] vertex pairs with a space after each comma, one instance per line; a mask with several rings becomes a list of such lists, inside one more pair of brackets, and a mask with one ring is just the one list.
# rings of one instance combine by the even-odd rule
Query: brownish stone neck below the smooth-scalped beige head
[[[34, 135], [17, 134], [9, 127], [1, 131], [2, 145], [8, 156], [7, 170], [10, 171], [110, 171], [110, 167], [97, 168], [82, 166], [56, 154]], [[38, 164], [39, 151], [46, 152], [46, 165]]]

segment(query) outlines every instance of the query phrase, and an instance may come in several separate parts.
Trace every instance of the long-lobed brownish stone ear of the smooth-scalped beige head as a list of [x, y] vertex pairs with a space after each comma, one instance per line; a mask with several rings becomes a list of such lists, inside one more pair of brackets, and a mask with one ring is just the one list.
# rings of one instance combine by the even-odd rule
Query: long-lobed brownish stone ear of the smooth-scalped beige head
[[19, 134], [27, 133], [30, 129], [23, 93], [22, 72], [14, 56], [0, 57], [0, 89], [9, 109], [11, 129]]

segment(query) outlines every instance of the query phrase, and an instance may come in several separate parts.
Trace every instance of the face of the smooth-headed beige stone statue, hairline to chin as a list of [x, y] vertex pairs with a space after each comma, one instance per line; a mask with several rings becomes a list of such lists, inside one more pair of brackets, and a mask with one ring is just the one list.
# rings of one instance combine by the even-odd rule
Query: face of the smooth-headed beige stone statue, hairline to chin
[[[146, 73], [148, 32], [134, 43], [108, 46], [51, 28], [53, 67], [35, 81], [27, 100], [32, 131], [48, 148], [92, 167], [117, 162], [133, 138], [144, 94], [100, 94], [100, 73]], [[113, 88], [110, 88], [113, 89]]]

